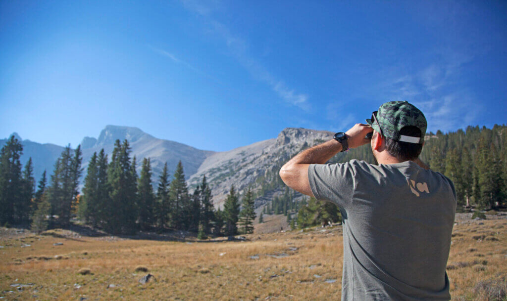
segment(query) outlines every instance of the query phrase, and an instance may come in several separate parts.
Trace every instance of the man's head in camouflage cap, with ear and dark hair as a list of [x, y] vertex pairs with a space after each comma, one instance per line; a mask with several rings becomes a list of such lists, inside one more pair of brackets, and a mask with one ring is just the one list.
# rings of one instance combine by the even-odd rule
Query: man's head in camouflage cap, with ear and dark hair
[[386, 102], [366, 122], [375, 131], [371, 142], [375, 158], [384, 151], [400, 161], [419, 157], [427, 123], [414, 105], [407, 101]]

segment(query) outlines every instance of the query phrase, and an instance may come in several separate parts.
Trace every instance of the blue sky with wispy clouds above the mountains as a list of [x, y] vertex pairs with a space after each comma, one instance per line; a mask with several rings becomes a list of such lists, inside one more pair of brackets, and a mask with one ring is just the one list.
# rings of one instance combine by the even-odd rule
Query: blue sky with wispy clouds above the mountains
[[428, 131], [505, 123], [503, 1], [2, 1], [0, 137], [107, 124], [224, 151], [408, 100]]

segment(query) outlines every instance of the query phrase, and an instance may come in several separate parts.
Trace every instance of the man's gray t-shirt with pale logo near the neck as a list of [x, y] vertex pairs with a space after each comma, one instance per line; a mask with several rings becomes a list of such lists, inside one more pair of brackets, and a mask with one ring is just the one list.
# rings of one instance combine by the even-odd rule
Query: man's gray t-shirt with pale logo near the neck
[[342, 300], [449, 300], [454, 184], [413, 161], [311, 164], [313, 194], [343, 218]]

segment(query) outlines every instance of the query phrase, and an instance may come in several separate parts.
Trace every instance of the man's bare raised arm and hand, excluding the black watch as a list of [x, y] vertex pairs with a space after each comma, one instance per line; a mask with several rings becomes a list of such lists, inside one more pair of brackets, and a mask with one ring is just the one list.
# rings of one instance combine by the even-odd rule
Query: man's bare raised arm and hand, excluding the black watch
[[[346, 132], [349, 148], [367, 144], [366, 134], [373, 129], [368, 124], [357, 123]], [[280, 169], [283, 183], [303, 194], [314, 196], [308, 181], [308, 166], [310, 164], [324, 164], [334, 155], [342, 151], [342, 144], [334, 139], [302, 151], [285, 163]]]

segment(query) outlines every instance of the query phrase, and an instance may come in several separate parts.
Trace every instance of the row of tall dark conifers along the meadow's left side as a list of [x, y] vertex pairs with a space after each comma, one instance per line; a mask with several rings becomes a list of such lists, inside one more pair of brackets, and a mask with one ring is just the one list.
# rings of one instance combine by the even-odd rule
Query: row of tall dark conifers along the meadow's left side
[[127, 140], [115, 142], [111, 161], [103, 149], [92, 155], [82, 194], [78, 191], [83, 172], [80, 146], [74, 151], [69, 146], [64, 149], [50, 183], [44, 171], [37, 190], [31, 158], [21, 170], [22, 151], [21, 143], [12, 136], [0, 153], [0, 205], [6, 208], [0, 214], [2, 225], [31, 223], [34, 231], [41, 232], [68, 226], [77, 214], [86, 224], [113, 234], [178, 229], [198, 232], [204, 238], [253, 232], [256, 214], [251, 189], [240, 204], [231, 187], [224, 209], [215, 210], [206, 177], [190, 193], [180, 161], [171, 181], [165, 163], [154, 190], [150, 159], [143, 159], [137, 175], [136, 158], [130, 157]]

